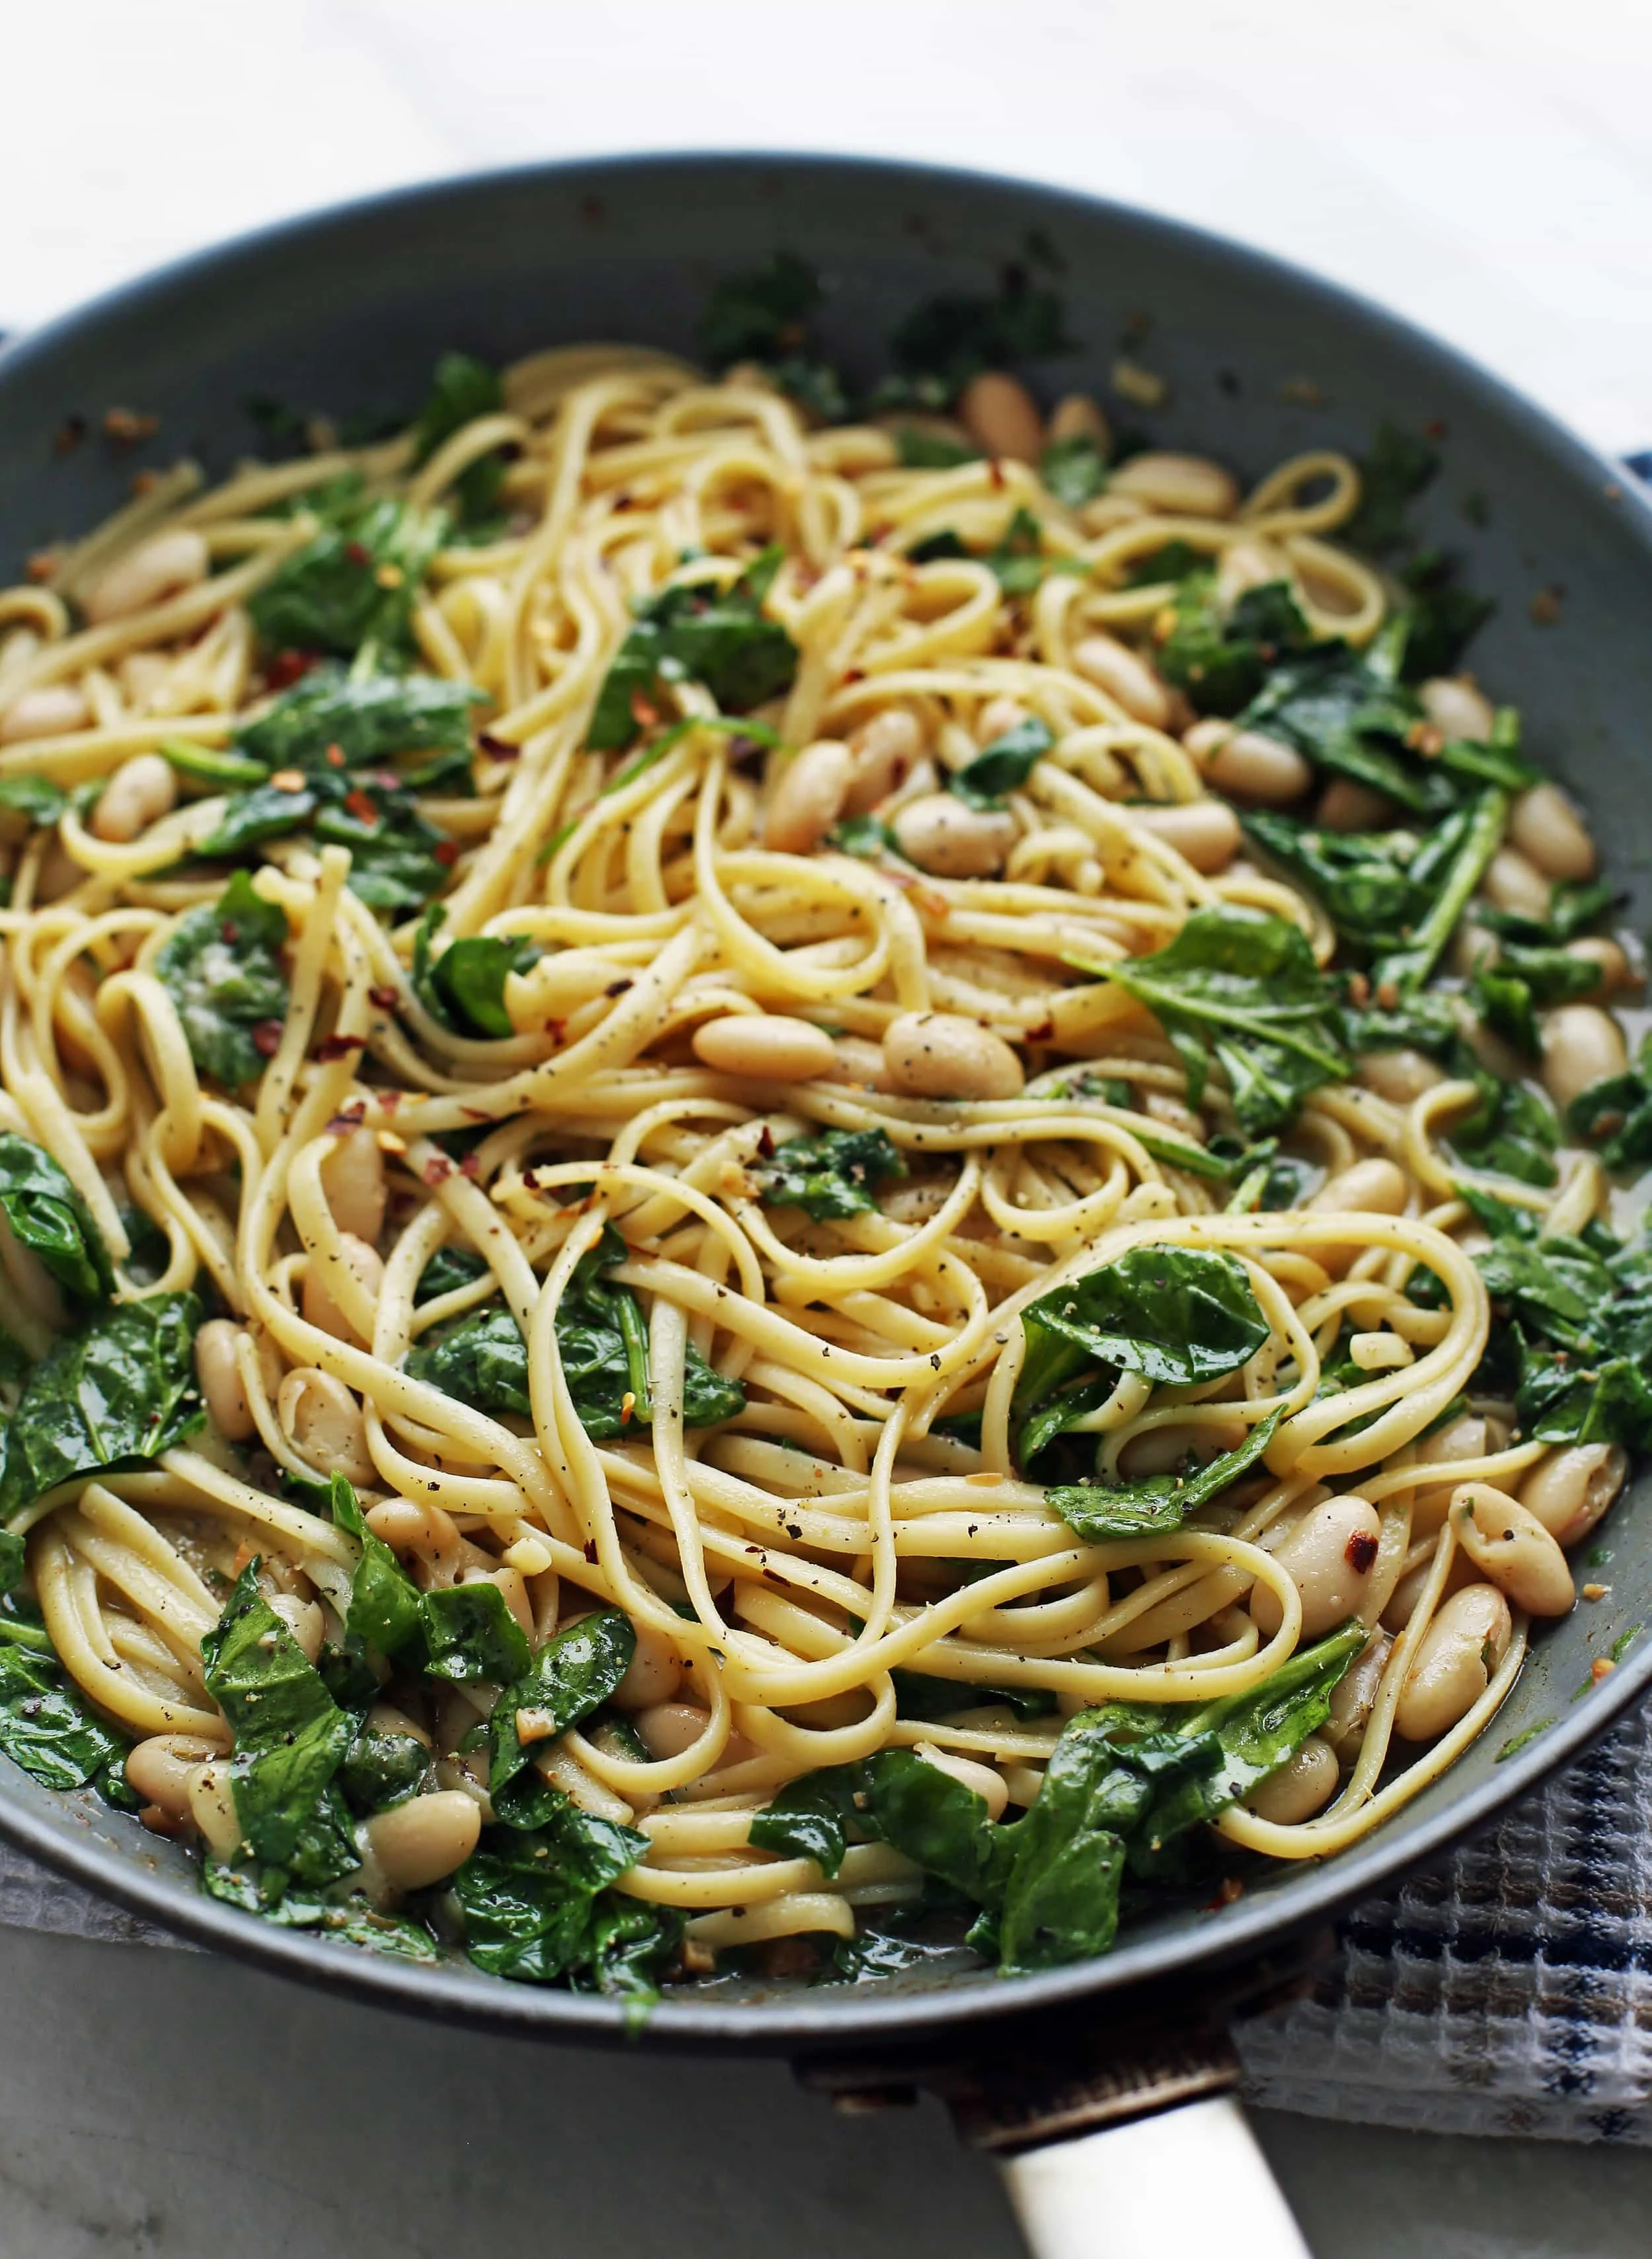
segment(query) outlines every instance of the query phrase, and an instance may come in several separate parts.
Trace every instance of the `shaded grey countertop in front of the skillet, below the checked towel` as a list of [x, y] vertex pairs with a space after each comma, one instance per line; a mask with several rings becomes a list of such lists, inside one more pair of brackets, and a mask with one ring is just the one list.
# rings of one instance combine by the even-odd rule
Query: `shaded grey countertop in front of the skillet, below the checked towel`
[[[0, 1931], [0, 2259], [1015, 2259], [936, 2105]], [[1652, 2153], [1259, 2121], [1318, 2259], [1645, 2259]]]

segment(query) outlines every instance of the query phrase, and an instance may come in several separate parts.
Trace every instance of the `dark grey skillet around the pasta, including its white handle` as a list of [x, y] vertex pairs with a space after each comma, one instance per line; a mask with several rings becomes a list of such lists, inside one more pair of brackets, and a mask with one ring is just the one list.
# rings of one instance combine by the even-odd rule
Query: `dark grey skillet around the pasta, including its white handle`
[[[1483, 370], [1345, 291], [1144, 212], [1026, 183], [798, 156], [545, 165], [395, 192], [192, 258], [0, 355], [5, 572], [18, 576], [29, 549], [102, 517], [140, 463], [188, 452], [210, 472], [228, 470], [258, 445], [249, 395], [328, 413], [407, 409], [450, 346], [495, 361], [576, 339], [692, 352], [707, 285], [782, 246], [820, 269], [823, 346], [859, 380], [879, 370], [884, 339], [913, 303], [990, 289], [1006, 262], [1033, 258], [1051, 269], [1080, 341], [1049, 366], [1046, 389], [1107, 395], [1116, 357], [1130, 352], [1171, 386], [1164, 409], [1125, 409], [1155, 445], [1257, 474], [1304, 447], [1358, 454], [1381, 420], [1435, 436], [1444, 468], [1419, 526], [1460, 551], [1471, 585], [1498, 601], [1476, 666], [1523, 709], [1537, 759], [1582, 797], [1596, 836], [1611, 843], [1611, 876], [1629, 890], [1629, 924], [1645, 922], [1652, 511], [1634, 481]], [[68, 416], [86, 416], [97, 434], [113, 404], [156, 413], [158, 436], [138, 454], [97, 436], [54, 450]], [[1548, 1629], [1494, 1728], [1342, 1857], [1279, 1866], [1234, 1904], [1155, 1916], [1107, 1959], [1040, 1977], [1003, 1981], [960, 1959], [857, 1988], [721, 1979], [662, 2001], [646, 2044], [802, 2056], [820, 2081], [861, 2099], [929, 2076], [1006, 2151], [1218, 2092], [1232, 2065], [1216, 2026], [1236, 1983], [1254, 1990], [1293, 1965], [1295, 1940], [1483, 1828], [1647, 1687], [1652, 1638], [1573, 1699], [1596, 1656], [1652, 1624], [1652, 1525], [1638, 1518], [1647, 1491], [1643, 1477], [1614, 1511], [1611, 1595]], [[1544, 1719], [1553, 1724], [1498, 1762]], [[626, 2029], [608, 1999], [499, 1983], [459, 1963], [409, 1968], [235, 1913], [199, 1893], [174, 1846], [90, 1791], [52, 1794], [5, 1762], [0, 1834], [149, 1920], [359, 1999], [547, 2038]], [[1182, 2047], [1200, 2026], [1209, 2044]], [[1114, 2042], [1114, 2072], [1121, 2033], [1134, 2065], [1101, 2085], [1098, 2031]], [[1141, 2069], [1144, 2047], [1157, 2069]], [[1042, 2081], [1035, 2103], [1031, 2067]], [[1130, 2139], [1168, 2135], [1155, 2119]], [[1205, 2119], [1198, 2173], [1229, 2191], [1209, 2232], [1232, 2250], [1247, 2248], [1232, 2193], [1247, 2164], [1241, 2151], [1218, 2164], [1227, 2151], [1216, 2144], [1238, 2139], [1236, 2119]], [[1067, 2189], [1083, 2148], [1044, 2153], [1064, 2160], [1055, 2196], [1051, 2171], [1040, 2180], [1017, 2169], [1017, 2200], [1051, 2250], [1071, 2245]], [[1159, 2187], [1166, 2169], [1150, 2166]], [[1137, 2248], [1123, 2221], [1116, 2241], [1096, 2243], [1083, 2205], [1078, 2225], [1089, 2250]], [[1259, 2252], [1302, 2250], [1281, 2212], [1259, 2234]], [[1198, 2241], [1209, 2250], [1207, 2234]], [[1182, 2248], [1164, 2239], [1164, 2221], [1155, 2248]]]

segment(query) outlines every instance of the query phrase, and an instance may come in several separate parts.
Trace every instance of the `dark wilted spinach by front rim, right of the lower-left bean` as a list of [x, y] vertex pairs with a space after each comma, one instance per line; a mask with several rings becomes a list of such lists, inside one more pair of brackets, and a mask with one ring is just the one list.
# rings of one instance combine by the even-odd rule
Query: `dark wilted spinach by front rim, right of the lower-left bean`
[[560, 1798], [531, 1834], [488, 1830], [454, 1875], [466, 1950], [490, 1977], [653, 1999], [682, 1936], [680, 1916], [608, 1884], [649, 1839]]

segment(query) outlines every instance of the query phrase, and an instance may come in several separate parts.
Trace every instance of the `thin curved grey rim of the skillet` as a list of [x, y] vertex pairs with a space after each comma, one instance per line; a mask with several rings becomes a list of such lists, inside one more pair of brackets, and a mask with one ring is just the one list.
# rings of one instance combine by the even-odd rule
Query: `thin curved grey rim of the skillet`
[[[841, 156], [832, 151], [644, 151], [585, 156], [524, 165], [488, 167], [405, 183], [371, 197], [323, 206], [296, 219], [276, 221], [172, 260], [111, 291], [99, 294], [45, 323], [41, 330], [0, 348], [0, 407], [11, 377], [47, 361], [66, 346], [95, 341], [99, 328], [127, 314], [165, 307], [174, 294], [192, 294], [233, 280], [260, 253], [282, 253], [325, 239], [332, 233], [407, 221], [436, 206], [463, 206], [508, 194], [511, 187], [538, 183], [565, 185], [583, 194], [601, 194], [612, 178], [646, 174], [719, 174], [762, 176], [786, 174], [807, 181], [857, 174], [913, 190], [985, 192], [1040, 203], [1046, 210], [1103, 215], [1121, 230], [1202, 253], [1227, 269], [1234, 280], [1254, 276], [1284, 285], [1313, 312], [1351, 330], [1376, 330], [1397, 337], [1421, 368], [1433, 364], [1467, 391], [1476, 409], [1489, 411], [1516, 441], [1562, 472], [1568, 483], [1591, 490], [1596, 504], [1614, 506], [1614, 522], [1645, 553], [1652, 567], [1652, 504], [1636, 490], [1636, 479], [1611, 459], [1568, 431], [1546, 409], [1483, 368], [1471, 355], [1446, 346], [1428, 330], [1367, 298], [1331, 282], [1290, 260], [1257, 251], [1243, 242], [1180, 219], [1166, 219], [1112, 197], [1064, 185], [1028, 181], [963, 165], [924, 160]], [[1652, 1604], [1652, 1593], [1650, 1593]], [[72, 1816], [47, 1818], [14, 1800], [9, 1767], [0, 1776], [0, 1837], [45, 1866], [84, 1884], [127, 1911], [179, 1931], [199, 1945], [217, 1947], [240, 1961], [276, 1970], [301, 1983], [346, 1995], [350, 1999], [425, 2015], [436, 2022], [493, 2029], [520, 2038], [617, 2042], [646, 2038], [649, 2044], [685, 2051], [791, 2053], [838, 2051], [854, 2047], [895, 2047], [911, 2040], [963, 2035], [972, 2026], [1001, 2026], [1006, 2020], [1028, 2020], [1071, 2011], [1085, 2001], [1141, 1992], [1148, 1986], [1209, 1974], [1227, 1963], [1259, 1956], [1299, 1931], [1324, 1925], [1354, 1900], [1403, 1873], [1428, 1864], [1442, 1850], [1489, 1825], [1521, 1796], [1528, 1796], [1564, 1762], [1577, 1758], [1625, 1710], [1652, 1687], [1652, 1640], [1618, 1665], [1589, 1701], [1546, 1728], [1505, 1767], [1442, 1805], [1419, 1830], [1392, 1843], [1379, 1830], [1363, 1846], [1331, 1861], [1304, 1861], [1299, 1879], [1284, 1884], [1279, 1895], [1241, 1900], [1223, 1909], [1207, 1929], [1162, 1938], [1128, 1940], [1096, 1961], [1015, 1979], [965, 1979], [929, 1992], [859, 1995], [852, 1988], [823, 1988], [782, 1995], [773, 2001], [696, 1999], [692, 1988], [669, 1995], [640, 2022], [624, 2001], [554, 1988], [508, 1983], [470, 1970], [429, 1970], [382, 1954], [339, 1947], [305, 1931], [280, 1929], [258, 1916], [240, 1913], [199, 1893], [188, 1898], [160, 1875], [154, 1879], [136, 1857], [93, 1843], [77, 1832]]]

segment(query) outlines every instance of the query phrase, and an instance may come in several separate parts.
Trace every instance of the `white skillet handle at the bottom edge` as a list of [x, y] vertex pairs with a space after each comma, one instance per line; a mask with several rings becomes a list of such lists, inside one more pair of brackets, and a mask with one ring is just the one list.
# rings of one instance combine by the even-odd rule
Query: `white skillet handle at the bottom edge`
[[1033, 2259], [1313, 2259], [1232, 2094], [999, 2157]]

